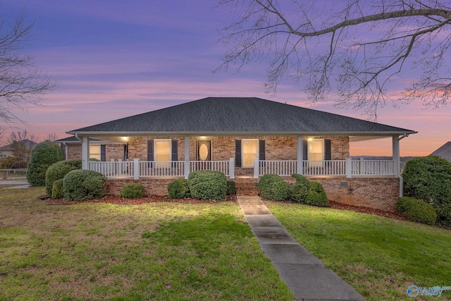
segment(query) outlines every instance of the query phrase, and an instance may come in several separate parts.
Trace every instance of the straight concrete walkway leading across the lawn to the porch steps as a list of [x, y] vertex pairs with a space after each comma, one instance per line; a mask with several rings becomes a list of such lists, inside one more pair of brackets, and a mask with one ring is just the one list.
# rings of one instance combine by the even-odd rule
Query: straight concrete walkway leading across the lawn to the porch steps
[[238, 203], [261, 249], [276, 266], [296, 300], [365, 300], [354, 288], [288, 234], [258, 196]]

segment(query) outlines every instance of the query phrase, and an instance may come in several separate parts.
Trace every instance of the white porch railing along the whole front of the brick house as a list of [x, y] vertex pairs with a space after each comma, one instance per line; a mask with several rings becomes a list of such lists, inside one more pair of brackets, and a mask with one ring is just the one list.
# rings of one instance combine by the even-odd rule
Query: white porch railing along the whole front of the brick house
[[[92, 171], [107, 177], [183, 177], [192, 171], [209, 169], [221, 171], [229, 178], [235, 178], [235, 160], [229, 161], [106, 161], [88, 163]], [[301, 171], [295, 160], [254, 160], [254, 178], [267, 173], [291, 176], [302, 173], [304, 176], [395, 176], [395, 161], [392, 160], [326, 160], [302, 161]], [[251, 176], [252, 174], [249, 174]]]

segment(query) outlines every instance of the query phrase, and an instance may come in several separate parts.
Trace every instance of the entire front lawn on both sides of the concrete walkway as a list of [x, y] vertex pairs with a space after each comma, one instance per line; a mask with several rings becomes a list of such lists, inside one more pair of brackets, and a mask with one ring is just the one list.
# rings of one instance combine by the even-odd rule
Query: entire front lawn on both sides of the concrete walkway
[[[292, 300], [233, 202], [48, 206], [39, 195], [0, 190], [0, 300]], [[368, 300], [414, 300], [411, 284], [451, 286], [451, 231], [267, 205]]]

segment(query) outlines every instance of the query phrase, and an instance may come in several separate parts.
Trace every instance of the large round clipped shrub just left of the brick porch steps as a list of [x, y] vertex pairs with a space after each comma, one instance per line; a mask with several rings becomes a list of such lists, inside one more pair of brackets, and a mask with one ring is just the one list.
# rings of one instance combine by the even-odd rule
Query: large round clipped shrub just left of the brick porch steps
[[220, 171], [194, 171], [188, 176], [188, 187], [194, 199], [225, 199], [227, 178]]

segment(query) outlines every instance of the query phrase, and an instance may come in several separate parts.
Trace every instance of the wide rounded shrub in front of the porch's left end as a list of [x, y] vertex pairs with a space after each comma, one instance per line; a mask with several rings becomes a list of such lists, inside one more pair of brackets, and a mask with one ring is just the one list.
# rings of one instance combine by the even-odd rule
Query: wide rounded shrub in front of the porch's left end
[[76, 169], [63, 180], [64, 198], [69, 201], [98, 199], [105, 195], [106, 178], [97, 171]]

